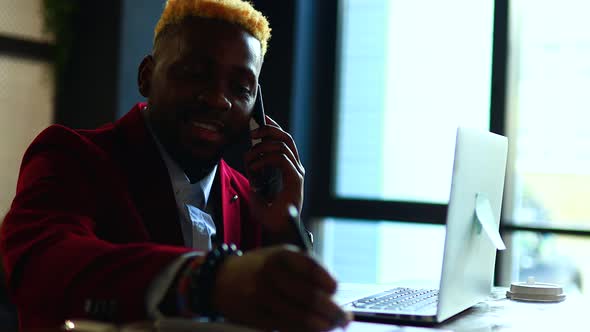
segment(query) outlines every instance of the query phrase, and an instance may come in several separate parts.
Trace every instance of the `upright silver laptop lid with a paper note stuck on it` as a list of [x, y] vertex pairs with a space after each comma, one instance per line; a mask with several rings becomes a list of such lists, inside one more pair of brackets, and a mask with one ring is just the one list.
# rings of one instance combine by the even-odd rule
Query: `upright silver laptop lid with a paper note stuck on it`
[[497, 230], [507, 154], [506, 137], [458, 128], [438, 298], [439, 322], [490, 293], [496, 247], [476, 219], [475, 203], [477, 194], [487, 196]]

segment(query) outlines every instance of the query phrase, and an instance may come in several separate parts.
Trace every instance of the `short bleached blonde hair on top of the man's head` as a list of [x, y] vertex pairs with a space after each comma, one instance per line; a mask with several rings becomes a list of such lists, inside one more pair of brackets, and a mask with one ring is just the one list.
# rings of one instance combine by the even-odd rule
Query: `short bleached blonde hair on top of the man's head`
[[168, 0], [154, 31], [154, 45], [167, 27], [187, 17], [212, 18], [234, 23], [260, 41], [262, 56], [270, 39], [270, 25], [261, 12], [244, 0]]

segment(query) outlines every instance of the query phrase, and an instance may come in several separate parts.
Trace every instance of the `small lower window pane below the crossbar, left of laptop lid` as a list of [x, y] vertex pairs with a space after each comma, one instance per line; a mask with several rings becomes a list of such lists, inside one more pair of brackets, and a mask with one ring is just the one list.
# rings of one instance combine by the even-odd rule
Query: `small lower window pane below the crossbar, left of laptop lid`
[[326, 218], [319, 256], [340, 282], [437, 280], [442, 269], [442, 225]]

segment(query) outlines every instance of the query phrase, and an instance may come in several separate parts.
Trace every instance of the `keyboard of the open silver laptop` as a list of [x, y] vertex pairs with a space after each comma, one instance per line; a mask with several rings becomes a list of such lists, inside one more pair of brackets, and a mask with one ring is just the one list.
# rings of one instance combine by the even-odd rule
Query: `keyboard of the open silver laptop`
[[419, 311], [436, 307], [437, 302], [437, 289], [399, 287], [354, 301], [352, 305], [359, 309]]

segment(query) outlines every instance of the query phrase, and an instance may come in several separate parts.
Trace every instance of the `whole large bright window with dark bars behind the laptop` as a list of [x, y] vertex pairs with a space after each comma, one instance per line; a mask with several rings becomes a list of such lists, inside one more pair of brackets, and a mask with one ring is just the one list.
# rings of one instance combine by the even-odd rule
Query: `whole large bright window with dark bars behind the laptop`
[[[316, 44], [338, 40], [335, 54], [319, 55], [336, 59], [322, 72], [336, 75], [333, 82], [318, 75], [316, 84], [333, 95], [318, 108], [333, 112], [318, 115], [328, 137], [316, 148], [322, 163], [333, 158], [314, 164], [311, 190], [327, 267], [352, 282], [439, 268], [437, 224], [448, 203], [455, 128], [464, 125], [510, 142], [501, 221], [509, 250], [499, 255], [496, 282], [534, 275], [587, 292], [590, 4], [340, 0], [332, 9], [337, 29]], [[404, 265], [408, 252], [424, 264], [387, 270]]]

